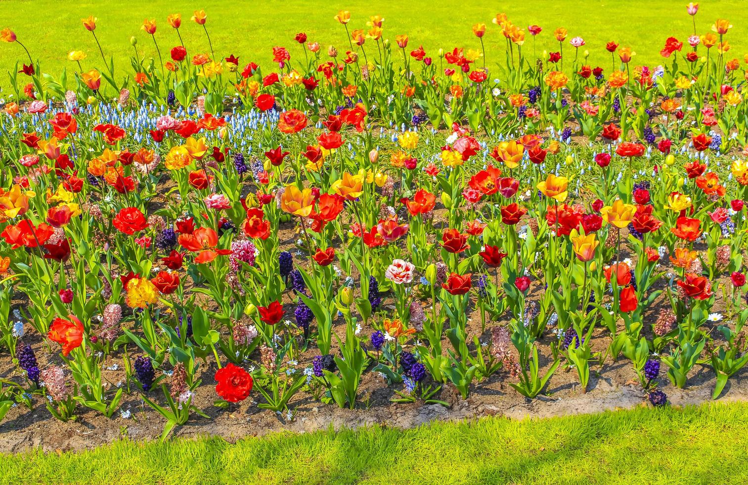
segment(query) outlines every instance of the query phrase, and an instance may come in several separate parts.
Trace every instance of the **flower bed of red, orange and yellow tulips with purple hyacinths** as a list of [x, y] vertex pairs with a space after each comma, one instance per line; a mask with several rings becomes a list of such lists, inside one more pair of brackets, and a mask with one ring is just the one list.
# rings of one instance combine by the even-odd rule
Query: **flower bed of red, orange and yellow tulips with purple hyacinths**
[[378, 17], [272, 73], [181, 42], [74, 76], [27, 51], [0, 120], [7, 446], [742, 397], [732, 25], [656, 69], [610, 43], [606, 75], [581, 37], [564, 70], [565, 29], [535, 62], [493, 23], [504, 81]]

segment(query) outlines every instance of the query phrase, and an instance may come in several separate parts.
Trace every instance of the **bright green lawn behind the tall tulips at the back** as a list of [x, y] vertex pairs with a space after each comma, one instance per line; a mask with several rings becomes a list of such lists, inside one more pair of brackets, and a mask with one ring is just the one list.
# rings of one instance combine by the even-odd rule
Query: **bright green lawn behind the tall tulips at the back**
[[[107, 55], [114, 55], [117, 65], [129, 70], [132, 46], [129, 39], [138, 39], [138, 49], [147, 55], [156, 55], [153, 40], [141, 25], [145, 17], [155, 18], [158, 30], [156, 39], [162, 54], [168, 56], [171, 47], [177, 45], [177, 34], [166, 23], [168, 13], [183, 15], [182, 35], [188, 52], [208, 52], [208, 44], [202, 28], [191, 22], [192, 10], [203, 8], [208, 13], [206, 24], [212, 37], [216, 55], [234, 54], [242, 65], [255, 61], [270, 66], [273, 46], [286, 46], [292, 57], [301, 56], [301, 48], [292, 40], [298, 31], [308, 34], [309, 40], [318, 41], [323, 51], [334, 44], [347, 46], [343, 25], [334, 21], [338, 10], [352, 13], [349, 29], [367, 28], [371, 15], [384, 16], [384, 38], [394, 40], [396, 34], [408, 34], [411, 43], [408, 50], [423, 45], [429, 55], [436, 55], [439, 48], [479, 48], [479, 40], [473, 36], [471, 26], [476, 22], [488, 25], [484, 37], [487, 61], [503, 61], [505, 40], [491, 19], [496, 13], [505, 11], [509, 19], [522, 28], [538, 24], [544, 31], [537, 37], [537, 50], [558, 50], [553, 31], [557, 27], [568, 29], [569, 37], [581, 36], [589, 49], [592, 66], [600, 65], [610, 70], [611, 60], [604, 45], [615, 40], [622, 46], [631, 46], [637, 56], [634, 64], [656, 65], [663, 61], [659, 52], [666, 37], [673, 35], [686, 41], [693, 33], [692, 19], [685, 12], [684, 0], [675, 1], [590, 1], [590, 0], [535, 0], [497, 3], [495, 1], [465, 1], [457, 4], [444, 0], [370, 2], [364, 0], [312, 2], [302, 0], [257, 0], [244, 1], [184, 1], [179, 7], [174, 2], [153, 1], [79, 1], [59, 3], [53, 0], [4, 0], [3, 19], [0, 28], [9, 27], [26, 44], [34, 58], [43, 62], [43, 70], [59, 73], [62, 67], [77, 69], [75, 63], [67, 61], [67, 52], [82, 50], [88, 53], [83, 67], [102, 67], [100, 55], [91, 33], [83, 28], [82, 17], [98, 17], [96, 34]], [[711, 0], [702, 2], [696, 16], [696, 28], [704, 34], [717, 18], [727, 18], [734, 28], [726, 36], [732, 46], [729, 57], [742, 60], [748, 52], [748, 10], [741, 8], [741, 0]], [[573, 58], [573, 48], [565, 43], [567, 59]], [[364, 46], [375, 52], [373, 41]], [[533, 49], [533, 40], [527, 33], [524, 46], [526, 55]], [[326, 55], [325, 55], [326, 57]], [[20, 46], [0, 45], [0, 67], [13, 67], [16, 61], [25, 60]], [[124, 65], [123, 65], [124, 64]], [[571, 61], [567, 66], [571, 64]], [[3, 78], [0, 85], [7, 86]]]

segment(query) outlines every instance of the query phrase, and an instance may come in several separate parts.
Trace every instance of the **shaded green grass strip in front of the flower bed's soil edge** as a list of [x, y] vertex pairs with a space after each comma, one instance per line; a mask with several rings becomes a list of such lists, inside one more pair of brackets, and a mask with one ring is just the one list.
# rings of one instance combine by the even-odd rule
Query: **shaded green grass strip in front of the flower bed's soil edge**
[[635, 409], [412, 430], [117, 442], [0, 460], [9, 484], [744, 483], [748, 404]]

